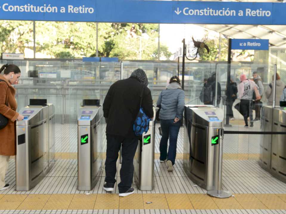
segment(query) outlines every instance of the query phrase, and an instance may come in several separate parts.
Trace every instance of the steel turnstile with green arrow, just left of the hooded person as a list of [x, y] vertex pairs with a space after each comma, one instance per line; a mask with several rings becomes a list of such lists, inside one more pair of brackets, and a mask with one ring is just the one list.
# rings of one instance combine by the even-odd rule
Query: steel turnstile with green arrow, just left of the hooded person
[[102, 172], [102, 107], [82, 106], [78, 112], [77, 189], [89, 191]]

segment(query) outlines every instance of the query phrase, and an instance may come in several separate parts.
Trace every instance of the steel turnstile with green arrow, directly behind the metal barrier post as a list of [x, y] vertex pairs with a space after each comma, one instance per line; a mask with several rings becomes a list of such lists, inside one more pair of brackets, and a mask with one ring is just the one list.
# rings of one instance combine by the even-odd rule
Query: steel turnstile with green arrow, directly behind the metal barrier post
[[215, 190], [224, 112], [213, 106], [186, 105], [184, 119], [184, 170], [197, 185]]

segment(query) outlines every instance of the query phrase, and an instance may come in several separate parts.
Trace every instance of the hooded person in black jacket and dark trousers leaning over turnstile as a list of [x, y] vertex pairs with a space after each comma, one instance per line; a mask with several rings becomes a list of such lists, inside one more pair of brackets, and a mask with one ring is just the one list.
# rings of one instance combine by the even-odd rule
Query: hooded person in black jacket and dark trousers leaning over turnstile
[[142, 90], [142, 108], [149, 118], [154, 117], [151, 91], [147, 88], [148, 79], [142, 69], [133, 71], [130, 78], [119, 80], [110, 86], [103, 103], [103, 116], [106, 118], [106, 161], [105, 191], [114, 191], [116, 182], [116, 161], [122, 145], [121, 182], [118, 184], [119, 196], [134, 193], [133, 158], [138, 145], [138, 137], [133, 131], [133, 124], [140, 109]]

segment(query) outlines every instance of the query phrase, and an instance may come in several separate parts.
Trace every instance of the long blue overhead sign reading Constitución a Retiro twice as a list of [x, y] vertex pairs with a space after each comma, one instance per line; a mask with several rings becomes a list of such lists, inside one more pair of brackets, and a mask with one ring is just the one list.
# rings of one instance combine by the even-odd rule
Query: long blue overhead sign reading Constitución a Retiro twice
[[2, 20], [284, 25], [286, 4], [146, 0], [9, 0]]

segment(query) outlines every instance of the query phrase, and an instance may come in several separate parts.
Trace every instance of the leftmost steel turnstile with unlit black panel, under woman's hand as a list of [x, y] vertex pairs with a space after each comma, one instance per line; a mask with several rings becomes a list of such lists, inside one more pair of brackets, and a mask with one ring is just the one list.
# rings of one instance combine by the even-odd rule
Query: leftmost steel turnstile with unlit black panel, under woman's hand
[[55, 158], [55, 107], [27, 106], [16, 122], [16, 191], [29, 191], [52, 168]]

